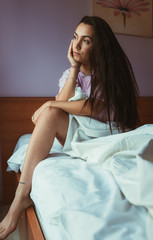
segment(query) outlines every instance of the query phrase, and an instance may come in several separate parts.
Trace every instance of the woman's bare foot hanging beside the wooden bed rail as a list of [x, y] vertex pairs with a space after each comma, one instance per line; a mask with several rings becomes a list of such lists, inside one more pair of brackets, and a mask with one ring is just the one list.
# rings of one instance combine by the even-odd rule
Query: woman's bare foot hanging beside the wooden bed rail
[[32, 204], [30, 197], [23, 197], [19, 194], [15, 196], [6, 217], [0, 223], [0, 239], [5, 239], [16, 229], [21, 213]]

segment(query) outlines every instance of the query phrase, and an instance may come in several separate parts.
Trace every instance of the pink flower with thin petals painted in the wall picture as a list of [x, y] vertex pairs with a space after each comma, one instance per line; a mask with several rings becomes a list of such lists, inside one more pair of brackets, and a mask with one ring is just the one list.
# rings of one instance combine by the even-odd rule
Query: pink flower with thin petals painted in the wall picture
[[141, 16], [141, 12], [149, 10], [150, 3], [145, 0], [98, 0], [96, 4], [114, 9], [114, 16], [121, 14], [126, 26], [126, 18], [131, 18], [132, 14]]

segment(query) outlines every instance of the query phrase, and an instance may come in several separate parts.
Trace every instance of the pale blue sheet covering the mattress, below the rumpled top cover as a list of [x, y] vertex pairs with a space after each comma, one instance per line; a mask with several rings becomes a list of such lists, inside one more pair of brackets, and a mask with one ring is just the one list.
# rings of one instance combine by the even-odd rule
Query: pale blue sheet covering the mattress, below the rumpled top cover
[[[29, 138], [18, 141], [10, 169], [22, 170]], [[35, 168], [31, 198], [46, 240], [148, 239], [146, 209], [124, 197], [111, 172], [64, 154], [58, 141]]]

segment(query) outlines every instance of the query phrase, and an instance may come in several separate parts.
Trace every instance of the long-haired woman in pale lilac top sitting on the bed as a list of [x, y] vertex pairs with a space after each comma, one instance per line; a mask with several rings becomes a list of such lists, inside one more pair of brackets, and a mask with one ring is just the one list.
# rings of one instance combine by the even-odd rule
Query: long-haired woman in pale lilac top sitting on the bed
[[[68, 50], [70, 69], [60, 79], [56, 101], [48, 101], [33, 115], [35, 124], [15, 198], [0, 223], [0, 239], [17, 226], [20, 214], [32, 205], [30, 190], [36, 165], [48, 156], [54, 138], [64, 146], [69, 115], [86, 116], [118, 131], [134, 129], [138, 114], [137, 84], [128, 58], [108, 24], [99, 17], [83, 17]], [[68, 101], [81, 87], [86, 98]]]

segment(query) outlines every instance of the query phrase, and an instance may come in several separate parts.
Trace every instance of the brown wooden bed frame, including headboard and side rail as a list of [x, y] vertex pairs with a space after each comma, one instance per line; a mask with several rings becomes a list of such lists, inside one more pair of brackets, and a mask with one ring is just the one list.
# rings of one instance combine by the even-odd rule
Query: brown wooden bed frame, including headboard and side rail
[[[0, 146], [3, 185], [3, 203], [11, 203], [19, 174], [6, 172], [7, 160], [20, 136], [32, 133], [32, 113], [54, 97], [0, 97]], [[153, 123], [153, 97], [138, 98], [140, 125]], [[19, 222], [21, 240], [44, 240], [34, 207], [28, 208]]]

